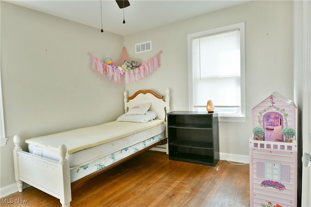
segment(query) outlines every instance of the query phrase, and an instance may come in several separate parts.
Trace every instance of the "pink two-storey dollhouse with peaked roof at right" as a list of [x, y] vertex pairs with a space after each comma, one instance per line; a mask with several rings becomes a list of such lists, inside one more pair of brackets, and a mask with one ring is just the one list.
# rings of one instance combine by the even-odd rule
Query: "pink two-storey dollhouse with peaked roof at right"
[[281, 130], [296, 131], [297, 107], [275, 92], [252, 109], [253, 127], [265, 131], [263, 141], [250, 138], [250, 206], [297, 205], [297, 142], [284, 142]]

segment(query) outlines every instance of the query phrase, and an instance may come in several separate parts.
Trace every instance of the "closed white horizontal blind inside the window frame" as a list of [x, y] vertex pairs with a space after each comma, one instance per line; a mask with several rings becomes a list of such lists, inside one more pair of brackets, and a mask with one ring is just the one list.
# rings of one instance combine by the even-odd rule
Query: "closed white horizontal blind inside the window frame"
[[241, 107], [240, 31], [192, 40], [193, 107]]

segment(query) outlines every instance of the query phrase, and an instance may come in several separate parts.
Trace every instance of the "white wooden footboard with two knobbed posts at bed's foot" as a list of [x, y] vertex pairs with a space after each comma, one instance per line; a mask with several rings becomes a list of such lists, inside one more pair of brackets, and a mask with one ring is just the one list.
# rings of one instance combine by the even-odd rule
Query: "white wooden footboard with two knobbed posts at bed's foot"
[[14, 136], [14, 168], [18, 191], [23, 191], [23, 182], [44, 191], [60, 200], [63, 207], [71, 201], [69, 162], [65, 158], [67, 148], [59, 146], [59, 162], [22, 151], [20, 138]]

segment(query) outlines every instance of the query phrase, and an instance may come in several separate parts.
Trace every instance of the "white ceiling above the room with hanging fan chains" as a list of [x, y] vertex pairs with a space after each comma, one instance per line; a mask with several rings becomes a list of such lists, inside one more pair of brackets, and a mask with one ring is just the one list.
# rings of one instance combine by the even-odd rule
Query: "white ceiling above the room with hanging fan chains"
[[[101, 0], [6, 0], [19, 6], [59, 16], [101, 30]], [[102, 0], [104, 31], [121, 35], [235, 6], [250, 0], [129, 0], [123, 9], [115, 0]]]

